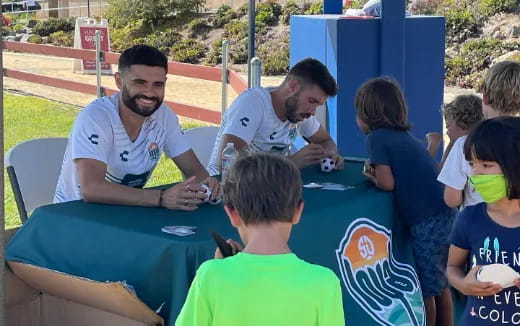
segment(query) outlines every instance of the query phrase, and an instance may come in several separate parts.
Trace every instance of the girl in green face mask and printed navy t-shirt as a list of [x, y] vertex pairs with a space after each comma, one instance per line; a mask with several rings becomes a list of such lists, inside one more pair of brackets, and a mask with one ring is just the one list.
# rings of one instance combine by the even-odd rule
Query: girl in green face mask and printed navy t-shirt
[[[471, 166], [469, 182], [484, 202], [464, 208], [451, 235], [448, 279], [468, 296], [459, 325], [518, 325], [520, 278], [503, 289], [476, 275], [490, 264], [520, 272], [520, 118], [481, 122], [469, 133], [464, 155]], [[466, 274], [468, 260], [472, 269]]]

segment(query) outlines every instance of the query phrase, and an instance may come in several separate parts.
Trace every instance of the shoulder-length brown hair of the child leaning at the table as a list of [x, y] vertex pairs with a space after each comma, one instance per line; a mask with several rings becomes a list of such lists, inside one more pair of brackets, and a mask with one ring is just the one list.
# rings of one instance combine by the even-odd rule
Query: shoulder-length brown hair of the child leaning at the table
[[410, 130], [408, 112], [401, 89], [387, 78], [374, 78], [365, 82], [356, 92], [356, 114], [368, 128]]

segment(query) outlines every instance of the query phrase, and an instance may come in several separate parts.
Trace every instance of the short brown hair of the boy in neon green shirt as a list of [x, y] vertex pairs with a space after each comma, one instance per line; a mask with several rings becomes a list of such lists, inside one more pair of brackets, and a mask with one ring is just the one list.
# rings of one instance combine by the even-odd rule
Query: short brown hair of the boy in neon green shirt
[[300, 170], [288, 159], [255, 153], [237, 160], [224, 182], [224, 205], [244, 223], [291, 222], [301, 201]]

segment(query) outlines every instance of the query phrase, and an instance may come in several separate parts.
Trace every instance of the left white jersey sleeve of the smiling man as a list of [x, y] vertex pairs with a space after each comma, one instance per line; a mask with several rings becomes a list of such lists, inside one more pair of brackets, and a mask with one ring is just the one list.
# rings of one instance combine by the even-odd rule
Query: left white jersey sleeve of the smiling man
[[95, 107], [85, 108], [70, 135], [72, 160], [88, 158], [107, 164], [113, 138], [109, 116]]

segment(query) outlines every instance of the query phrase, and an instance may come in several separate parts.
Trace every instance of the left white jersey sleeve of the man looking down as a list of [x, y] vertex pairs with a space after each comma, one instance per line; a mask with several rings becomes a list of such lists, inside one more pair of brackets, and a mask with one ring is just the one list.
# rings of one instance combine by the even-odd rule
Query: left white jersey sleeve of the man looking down
[[261, 105], [261, 101], [248, 96], [235, 100], [226, 111], [222, 135], [233, 135], [249, 144], [262, 123], [264, 110]]

